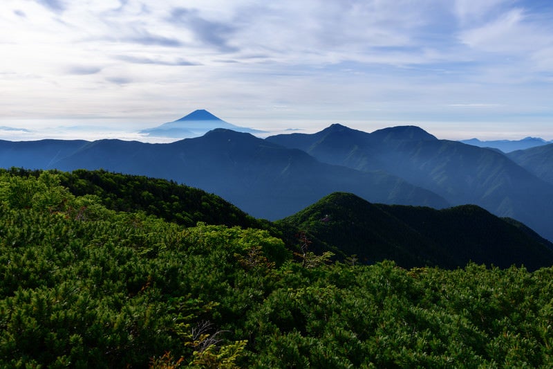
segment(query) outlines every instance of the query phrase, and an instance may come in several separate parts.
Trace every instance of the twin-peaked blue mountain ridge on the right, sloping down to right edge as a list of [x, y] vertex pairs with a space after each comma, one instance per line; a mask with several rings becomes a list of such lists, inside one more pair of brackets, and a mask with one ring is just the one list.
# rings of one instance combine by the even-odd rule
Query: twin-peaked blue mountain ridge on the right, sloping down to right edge
[[[427, 188], [450, 204], [476, 204], [501, 217], [513, 217], [553, 240], [553, 186], [505, 154], [424, 134], [399, 136], [348, 127], [314, 134], [265, 138], [306, 150], [320, 161], [357, 170], [384, 170]], [[375, 134], [376, 133], [376, 134]], [[422, 135], [421, 135], [422, 134]], [[422, 138], [422, 139], [418, 139]]]

